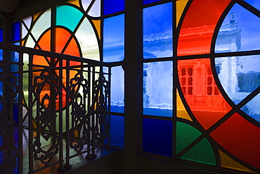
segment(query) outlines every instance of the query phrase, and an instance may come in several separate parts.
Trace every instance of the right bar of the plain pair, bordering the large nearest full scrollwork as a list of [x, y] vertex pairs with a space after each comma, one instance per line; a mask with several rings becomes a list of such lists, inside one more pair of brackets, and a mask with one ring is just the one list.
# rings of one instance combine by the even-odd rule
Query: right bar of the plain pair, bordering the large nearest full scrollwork
[[29, 114], [28, 114], [28, 124], [29, 124], [29, 173], [33, 173], [33, 128], [32, 128], [32, 54], [29, 54], [29, 75], [28, 75], [28, 81], [29, 81], [29, 93], [28, 93], [28, 102], [29, 102]]

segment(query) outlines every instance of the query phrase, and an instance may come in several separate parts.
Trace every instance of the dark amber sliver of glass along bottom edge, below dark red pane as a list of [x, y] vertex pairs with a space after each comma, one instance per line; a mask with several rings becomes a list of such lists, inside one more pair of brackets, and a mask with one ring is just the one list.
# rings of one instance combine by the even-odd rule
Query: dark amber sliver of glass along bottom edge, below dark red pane
[[236, 169], [236, 170], [239, 169], [239, 170], [255, 173], [253, 170], [250, 170], [249, 168], [242, 166], [237, 161], [231, 159], [229, 156], [224, 154], [223, 151], [219, 150], [219, 154], [220, 154], [220, 157], [221, 157], [221, 166], [222, 167], [233, 168], [233, 169]]

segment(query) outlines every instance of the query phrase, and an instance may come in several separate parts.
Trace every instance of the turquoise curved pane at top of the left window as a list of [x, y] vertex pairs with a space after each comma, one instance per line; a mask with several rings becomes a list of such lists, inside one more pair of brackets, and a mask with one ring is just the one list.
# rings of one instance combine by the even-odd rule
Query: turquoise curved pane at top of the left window
[[56, 14], [56, 25], [67, 27], [74, 31], [82, 18], [82, 12], [72, 6], [58, 6]]

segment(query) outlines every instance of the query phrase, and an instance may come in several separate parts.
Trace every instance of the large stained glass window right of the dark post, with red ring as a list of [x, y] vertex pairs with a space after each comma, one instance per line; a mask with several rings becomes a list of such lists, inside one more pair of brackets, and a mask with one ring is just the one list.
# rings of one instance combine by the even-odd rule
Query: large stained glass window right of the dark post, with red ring
[[259, 2], [143, 4], [143, 151], [258, 173]]

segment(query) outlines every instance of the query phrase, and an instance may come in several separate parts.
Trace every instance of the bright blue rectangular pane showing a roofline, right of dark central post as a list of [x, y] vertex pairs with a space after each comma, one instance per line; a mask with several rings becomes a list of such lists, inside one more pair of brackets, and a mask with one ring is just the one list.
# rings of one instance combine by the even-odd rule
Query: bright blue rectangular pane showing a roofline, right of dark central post
[[172, 4], [144, 8], [143, 58], [172, 55]]

